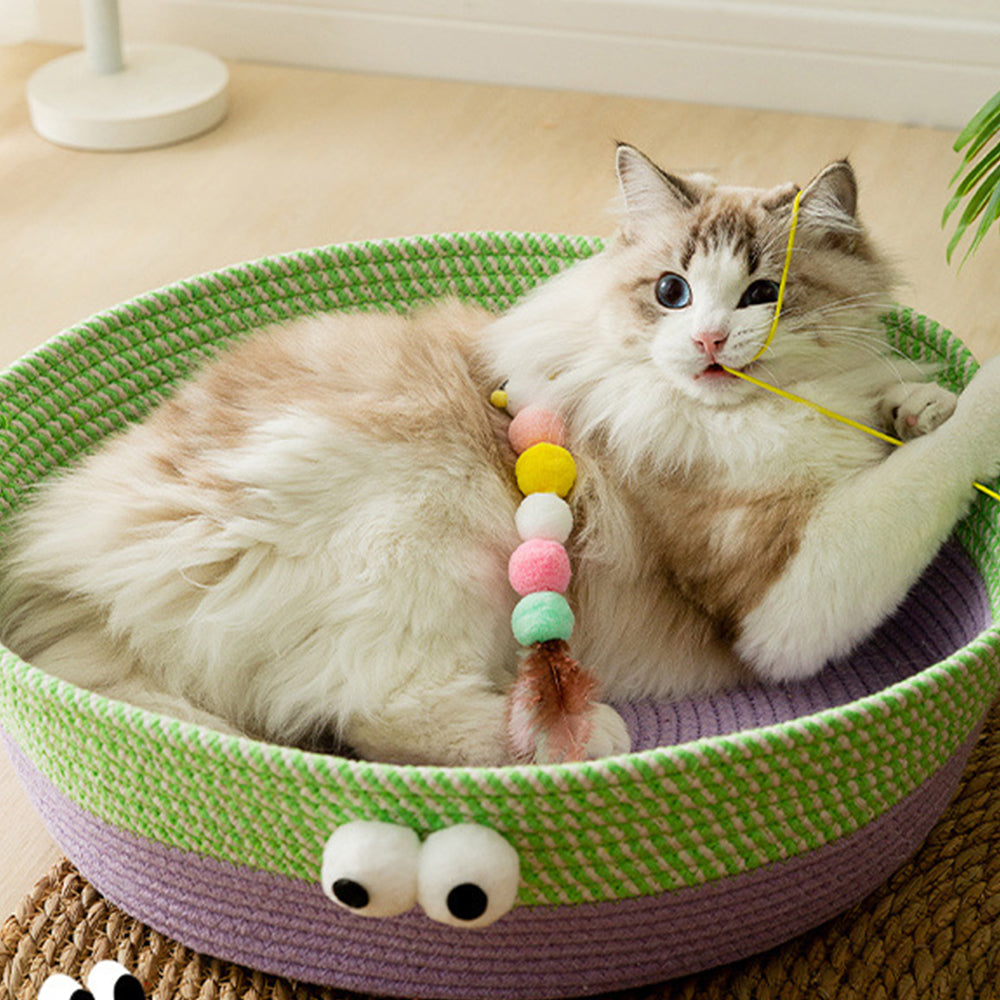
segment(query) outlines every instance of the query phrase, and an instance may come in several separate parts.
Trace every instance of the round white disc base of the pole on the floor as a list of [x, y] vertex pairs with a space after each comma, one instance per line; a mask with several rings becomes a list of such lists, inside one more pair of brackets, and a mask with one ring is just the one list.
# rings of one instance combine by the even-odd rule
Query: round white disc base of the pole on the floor
[[207, 132], [226, 114], [229, 73], [215, 56], [177, 45], [128, 45], [125, 68], [93, 72], [86, 52], [28, 80], [31, 123], [74, 149], [147, 149]]

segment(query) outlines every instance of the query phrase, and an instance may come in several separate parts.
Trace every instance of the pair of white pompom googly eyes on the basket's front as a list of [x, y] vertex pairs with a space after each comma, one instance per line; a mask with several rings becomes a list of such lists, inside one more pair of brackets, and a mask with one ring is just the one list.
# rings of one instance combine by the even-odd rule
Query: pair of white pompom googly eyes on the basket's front
[[358, 821], [338, 827], [323, 850], [323, 891], [360, 916], [391, 917], [419, 902], [452, 927], [486, 927], [517, 899], [521, 863], [495, 830], [463, 823], [432, 833]]

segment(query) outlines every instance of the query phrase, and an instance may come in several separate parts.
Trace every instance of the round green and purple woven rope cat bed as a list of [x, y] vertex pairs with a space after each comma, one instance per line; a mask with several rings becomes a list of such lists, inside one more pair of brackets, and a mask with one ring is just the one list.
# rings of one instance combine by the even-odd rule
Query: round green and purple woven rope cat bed
[[[444, 294], [494, 308], [598, 249], [483, 234], [355, 244], [202, 276], [99, 315], [0, 380], [0, 502], [139, 419], [226, 341], [302, 312]], [[936, 324], [885, 318], [963, 385]], [[46, 676], [4, 651], [0, 726], [80, 872], [197, 951], [305, 982], [415, 997], [563, 997], [755, 954], [884, 882], [954, 794], [1000, 684], [997, 516], [977, 501], [893, 619], [818, 678], [619, 706], [633, 752], [556, 767], [398, 767], [222, 736]], [[487, 826], [517, 852], [514, 908], [462, 929], [364, 918], [320, 884], [357, 820], [421, 838]]]

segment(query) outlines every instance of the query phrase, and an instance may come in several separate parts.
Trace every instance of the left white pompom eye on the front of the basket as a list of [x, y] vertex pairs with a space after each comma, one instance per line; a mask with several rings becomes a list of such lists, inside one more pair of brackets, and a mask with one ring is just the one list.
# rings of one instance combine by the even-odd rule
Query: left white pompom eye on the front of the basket
[[394, 823], [345, 823], [323, 849], [323, 891], [365, 917], [393, 917], [417, 901], [420, 838]]

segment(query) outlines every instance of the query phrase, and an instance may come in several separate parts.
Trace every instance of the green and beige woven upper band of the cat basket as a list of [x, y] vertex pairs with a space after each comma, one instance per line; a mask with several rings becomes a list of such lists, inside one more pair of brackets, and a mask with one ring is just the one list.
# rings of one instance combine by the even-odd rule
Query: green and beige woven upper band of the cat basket
[[[219, 346], [309, 311], [403, 308], [456, 294], [503, 308], [600, 248], [591, 238], [445, 235], [313, 250], [181, 282], [55, 338], [0, 378], [8, 425], [0, 505], [139, 418]], [[975, 362], [909, 310], [901, 351]], [[997, 504], [960, 536], [1000, 606]], [[968, 739], [1000, 682], [991, 629], [877, 695], [773, 727], [561, 767], [413, 768], [221, 736], [75, 688], [0, 653], [0, 722], [66, 796], [103, 822], [186, 851], [315, 881], [343, 822], [419, 834], [492, 826], [522, 859], [522, 905], [654, 895], [815, 850], [917, 789]]]

